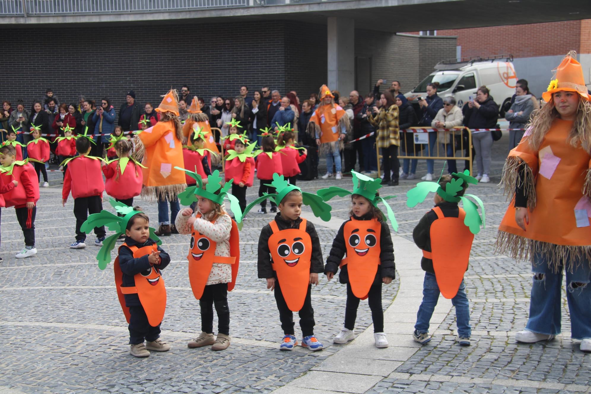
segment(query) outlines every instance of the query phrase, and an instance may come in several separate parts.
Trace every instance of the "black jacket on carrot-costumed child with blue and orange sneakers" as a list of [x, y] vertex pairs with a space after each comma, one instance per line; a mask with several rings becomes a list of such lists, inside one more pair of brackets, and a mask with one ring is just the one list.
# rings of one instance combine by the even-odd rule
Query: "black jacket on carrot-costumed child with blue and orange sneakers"
[[[275, 222], [277, 222], [278, 229], [285, 230], [285, 229], [297, 229], [300, 227], [301, 217], [294, 222], [287, 222], [286, 220], [281, 219], [281, 213], [278, 212], [275, 215]], [[320, 239], [318, 238], [318, 234], [316, 233], [316, 229], [314, 228], [314, 224], [310, 222], [310, 220], [306, 223], [306, 232], [310, 235], [310, 239], [312, 241], [312, 257], [310, 263], [310, 272], [311, 273], [321, 273], [324, 272], [324, 263], [322, 262], [322, 248], [320, 247]], [[268, 278], [277, 278], [275, 271], [273, 269], [273, 265], [271, 262], [271, 251], [269, 250], [269, 238], [273, 235], [273, 230], [271, 230], [271, 226], [267, 224], [261, 230], [261, 236], [259, 237], [259, 244], [258, 244], [258, 277], [262, 279]]]

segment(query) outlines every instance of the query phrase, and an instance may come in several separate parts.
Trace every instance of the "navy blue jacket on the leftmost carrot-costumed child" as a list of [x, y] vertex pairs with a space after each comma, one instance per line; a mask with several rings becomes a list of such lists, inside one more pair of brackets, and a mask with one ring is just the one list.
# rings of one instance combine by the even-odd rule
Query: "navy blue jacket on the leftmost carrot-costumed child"
[[[137, 246], [137, 248], [143, 248], [144, 246], [152, 246], [155, 243], [154, 240], [148, 238], [148, 240], [144, 243], [135, 242], [131, 237], [125, 237], [125, 243], [129, 246]], [[160, 250], [160, 264], [156, 266], [158, 269], [166, 268], [168, 263], [170, 263], [170, 256], [168, 253], [164, 252], [164, 249], [158, 246], [158, 250]], [[145, 255], [140, 258], [134, 258], [134, 253], [129, 249], [127, 246], [121, 246], [119, 249], [119, 266], [121, 267], [121, 272], [123, 273], [123, 281], [122, 286], [124, 287], [133, 287], [135, 286], [135, 279], [134, 275], [140, 272], [148, 271], [150, 269], [150, 262], [148, 262], [148, 256]], [[125, 305], [128, 307], [136, 307], [141, 305], [139, 302], [139, 297], [137, 294], [124, 294], [125, 296]]]

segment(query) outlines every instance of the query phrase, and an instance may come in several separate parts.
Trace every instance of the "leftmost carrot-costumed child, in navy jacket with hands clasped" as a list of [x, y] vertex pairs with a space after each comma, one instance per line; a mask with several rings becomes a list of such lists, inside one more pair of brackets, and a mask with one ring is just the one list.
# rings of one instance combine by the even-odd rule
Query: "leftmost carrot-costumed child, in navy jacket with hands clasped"
[[170, 350], [170, 345], [160, 340], [160, 324], [166, 308], [161, 269], [170, 263], [170, 256], [158, 246], [162, 242], [150, 227], [147, 214], [139, 207], [128, 207], [113, 198], [110, 203], [117, 216], [106, 210], [100, 211], [90, 215], [82, 229], [90, 232], [93, 227], [108, 226], [115, 230], [96, 256], [100, 269], [105, 269], [111, 262], [111, 250], [116, 240], [125, 235], [125, 243], [119, 247], [113, 269], [119, 303], [129, 323], [129, 353], [135, 357], [148, 357], [148, 350]]

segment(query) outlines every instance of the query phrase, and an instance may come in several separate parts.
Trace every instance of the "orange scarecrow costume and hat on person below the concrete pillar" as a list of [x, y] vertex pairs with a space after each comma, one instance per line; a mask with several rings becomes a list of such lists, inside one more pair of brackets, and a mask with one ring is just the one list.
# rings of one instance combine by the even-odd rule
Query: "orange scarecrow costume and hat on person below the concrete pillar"
[[324, 97], [335, 97], [326, 85], [320, 87], [320, 103], [312, 113], [307, 128], [307, 133], [312, 138], [320, 139], [320, 155], [329, 151], [342, 151], [343, 141], [340, 140], [340, 135], [349, 128], [349, 118], [345, 110], [334, 102], [324, 104]]

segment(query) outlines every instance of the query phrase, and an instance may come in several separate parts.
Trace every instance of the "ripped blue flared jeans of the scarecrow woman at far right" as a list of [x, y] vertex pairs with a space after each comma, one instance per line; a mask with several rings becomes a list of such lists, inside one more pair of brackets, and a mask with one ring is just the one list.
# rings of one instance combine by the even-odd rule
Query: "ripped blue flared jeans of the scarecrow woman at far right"
[[[540, 334], [560, 334], [560, 310], [562, 292], [562, 271], [564, 265], [554, 272], [548, 266], [547, 257], [535, 253], [532, 272], [534, 283], [531, 287], [530, 318], [526, 330]], [[573, 272], [566, 271], [566, 300], [570, 312], [570, 333], [574, 339], [591, 338], [591, 268], [589, 260], [583, 257]]]

